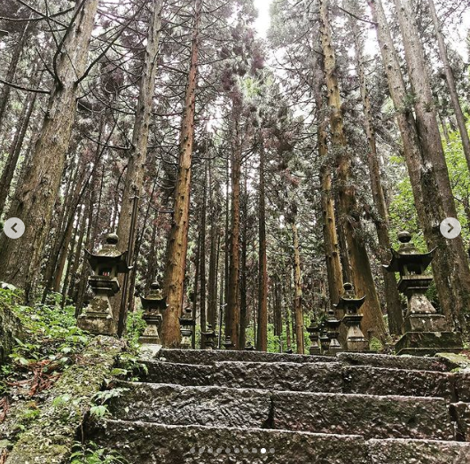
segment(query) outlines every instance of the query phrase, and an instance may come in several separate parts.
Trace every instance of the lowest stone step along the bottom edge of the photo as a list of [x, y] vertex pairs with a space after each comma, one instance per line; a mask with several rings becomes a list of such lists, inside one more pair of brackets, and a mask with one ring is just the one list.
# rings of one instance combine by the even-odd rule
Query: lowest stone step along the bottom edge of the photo
[[431, 440], [369, 440], [263, 429], [168, 426], [101, 421], [87, 435], [129, 464], [470, 464], [470, 444]]

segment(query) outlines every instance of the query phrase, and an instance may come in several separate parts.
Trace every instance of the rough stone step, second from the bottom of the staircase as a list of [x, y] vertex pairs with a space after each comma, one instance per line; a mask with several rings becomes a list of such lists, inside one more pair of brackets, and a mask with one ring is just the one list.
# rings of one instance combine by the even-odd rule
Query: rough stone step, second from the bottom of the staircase
[[379, 397], [122, 382], [116, 419], [165, 425], [284, 429], [366, 438], [451, 440], [455, 427], [442, 398]]

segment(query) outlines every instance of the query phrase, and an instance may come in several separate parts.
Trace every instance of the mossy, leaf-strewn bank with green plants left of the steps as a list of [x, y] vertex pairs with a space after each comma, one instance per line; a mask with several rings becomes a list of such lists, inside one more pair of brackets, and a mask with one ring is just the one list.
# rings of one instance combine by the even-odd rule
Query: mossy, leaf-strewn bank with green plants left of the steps
[[0, 304], [20, 319], [24, 335], [0, 370], [0, 463], [66, 462], [92, 398], [114, 374], [129, 373], [114, 369], [120, 355], [134, 367], [134, 350], [124, 353], [133, 342], [82, 332], [74, 307], [55, 295], [29, 307], [0, 290]]

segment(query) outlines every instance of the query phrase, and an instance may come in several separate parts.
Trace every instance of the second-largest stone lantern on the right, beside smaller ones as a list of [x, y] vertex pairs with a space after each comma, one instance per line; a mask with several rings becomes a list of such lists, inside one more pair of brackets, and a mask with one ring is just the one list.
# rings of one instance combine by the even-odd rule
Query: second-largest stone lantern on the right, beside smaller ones
[[346, 335], [348, 351], [367, 351], [369, 350], [369, 341], [365, 339], [361, 330], [361, 321], [364, 316], [359, 312], [364, 304], [365, 296], [357, 298], [352, 284], [346, 283], [343, 288], [344, 294], [340, 298], [340, 303], [335, 304], [335, 307], [344, 311], [342, 321], [348, 327]]

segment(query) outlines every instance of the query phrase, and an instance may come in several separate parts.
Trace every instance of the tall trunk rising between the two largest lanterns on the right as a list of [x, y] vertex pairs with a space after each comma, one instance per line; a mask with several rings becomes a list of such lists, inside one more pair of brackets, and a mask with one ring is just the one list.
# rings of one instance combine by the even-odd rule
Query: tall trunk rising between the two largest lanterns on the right
[[328, 105], [330, 106], [330, 123], [333, 133], [333, 149], [337, 158], [338, 175], [338, 212], [341, 229], [347, 242], [349, 262], [351, 264], [353, 283], [358, 295], [367, 295], [363, 306], [364, 333], [372, 334], [385, 341], [387, 328], [380, 310], [379, 297], [375, 288], [371, 263], [365, 248], [360, 213], [356, 203], [356, 189], [352, 182], [351, 162], [348, 142], [344, 133], [341, 114], [341, 96], [338, 77], [335, 73], [336, 59], [332, 42], [332, 32], [328, 17], [328, 0], [319, 0], [320, 35], [324, 53]]

